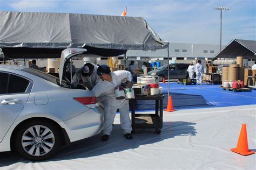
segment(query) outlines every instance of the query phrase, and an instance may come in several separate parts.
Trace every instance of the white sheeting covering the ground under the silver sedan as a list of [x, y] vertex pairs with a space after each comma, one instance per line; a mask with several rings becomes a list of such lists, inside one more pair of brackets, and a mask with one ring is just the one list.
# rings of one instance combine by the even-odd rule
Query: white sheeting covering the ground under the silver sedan
[[242, 123], [256, 151], [255, 114], [256, 105], [164, 112], [161, 134], [136, 130], [133, 140], [122, 136], [117, 115], [106, 142], [100, 135], [85, 139], [43, 162], [0, 153], [0, 169], [255, 169], [256, 154], [230, 151]]

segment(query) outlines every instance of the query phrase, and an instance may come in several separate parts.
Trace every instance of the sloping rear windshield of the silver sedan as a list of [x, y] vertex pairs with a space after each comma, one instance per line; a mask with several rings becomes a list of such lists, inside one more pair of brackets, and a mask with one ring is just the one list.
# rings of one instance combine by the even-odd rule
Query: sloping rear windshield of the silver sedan
[[[50, 81], [51, 83], [53, 84], [57, 84], [58, 86], [59, 85], [59, 78], [56, 77], [56, 76], [53, 76], [53, 75], [50, 75], [50, 74], [46, 74], [40, 70], [37, 70], [37, 69], [32, 69], [32, 68], [24, 68], [22, 69], [23, 72], [26, 72], [26, 73], [30, 73], [30, 74], [33, 74], [35, 76], [38, 76], [46, 81]], [[62, 87], [69, 87], [69, 83], [66, 82], [65, 80], [62, 80]]]

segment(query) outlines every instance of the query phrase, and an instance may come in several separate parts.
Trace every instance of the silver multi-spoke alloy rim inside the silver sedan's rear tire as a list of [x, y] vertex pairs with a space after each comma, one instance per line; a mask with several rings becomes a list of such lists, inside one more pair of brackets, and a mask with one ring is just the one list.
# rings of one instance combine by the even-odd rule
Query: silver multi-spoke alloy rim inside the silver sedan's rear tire
[[46, 126], [34, 125], [25, 130], [21, 143], [26, 153], [41, 157], [48, 154], [55, 146], [55, 136]]

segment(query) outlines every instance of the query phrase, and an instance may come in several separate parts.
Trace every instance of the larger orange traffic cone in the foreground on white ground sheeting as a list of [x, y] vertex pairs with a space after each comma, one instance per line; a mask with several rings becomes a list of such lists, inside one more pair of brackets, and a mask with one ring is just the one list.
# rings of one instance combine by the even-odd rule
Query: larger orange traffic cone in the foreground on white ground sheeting
[[242, 124], [242, 129], [240, 131], [237, 147], [231, 148], [230, 150], [244, 156], [254, 153], [254, 151], [248, 149], [246, 124]]

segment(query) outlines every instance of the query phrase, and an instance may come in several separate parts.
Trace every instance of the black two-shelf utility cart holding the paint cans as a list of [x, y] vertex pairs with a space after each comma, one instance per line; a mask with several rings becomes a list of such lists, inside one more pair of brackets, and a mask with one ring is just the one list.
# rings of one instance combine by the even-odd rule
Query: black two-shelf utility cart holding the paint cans
[[[132, 101], [132, 133], [135, 129], [156, 129], [160, 134], [163, 128], [163, 99], [164, 95], [135, 95]], [[135, 106], [137, 100], [155, 100], [156, 112], [154, 114], [136, 114]]]

